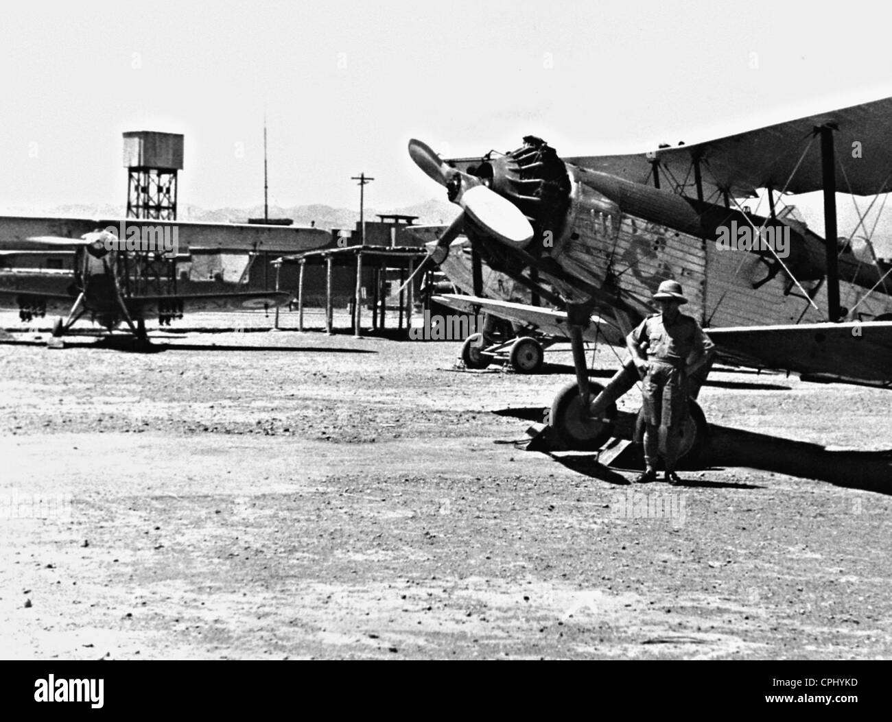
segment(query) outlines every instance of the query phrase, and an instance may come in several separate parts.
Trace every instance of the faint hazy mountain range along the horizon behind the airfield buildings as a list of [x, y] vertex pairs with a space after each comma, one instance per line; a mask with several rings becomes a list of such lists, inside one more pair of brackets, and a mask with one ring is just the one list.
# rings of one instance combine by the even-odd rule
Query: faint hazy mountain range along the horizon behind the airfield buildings
[[[63, 205], [45, 212], [34, 212], [31, 209], [4, 208], [4, 215], [72, 217], [72, 218], [119, 218], [124, 216], [124, 208], [110, 205]], [[389, 213], [401, 216], [417, 216], [419, 225], [448, 225], [458, 216], [458, 206], [446, 201], [431, 199], [424, 203], [401, 209], [378, 210], [367, 208], [366, 220], [377, 220], [376, 214]], [[221, 208], [206, 210], [198, 206], [183, 205], [179, 207], [178, 219], [182, 221], [199, 221], [202, 223], [246, 223], [248, 218], [262, 218], [263, 206], [249, 209]], [[330, 231], [332, 228], [353, 228], [359, 221], [359, 210], [332, 208], [322, 203], [292, 208], [269, 207], [270, 218], [292, 218], [295, 226], [310, 226], [315, 222], [317, 228]]]

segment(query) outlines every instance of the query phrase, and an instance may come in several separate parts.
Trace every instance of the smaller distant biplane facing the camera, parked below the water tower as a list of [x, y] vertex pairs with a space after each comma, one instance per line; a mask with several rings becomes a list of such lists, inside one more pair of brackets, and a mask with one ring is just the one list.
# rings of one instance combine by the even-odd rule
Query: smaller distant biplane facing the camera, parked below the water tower
[[167, 325], [186, 311], [275, 308], [291, 299], [290, 293], [281, 291], [178, 293], [178, 249], [159, 245], [153, 250], [127, 250], [126, 243], [108, 229], [79, 238], [21, 238], [0, 249], [4, 260], [33, 254], [71, 255], [72, 270], [4, 270], [0, 272], [0, 304], [18, 308], [25, 322], [47, 313], [67, 314], [54, 322], [54, 346], [61, 345], [62, 337], [85, 315], [106, 333], [126, 324], [137, 346], [145, 347], [145, 322], [153, 316]]

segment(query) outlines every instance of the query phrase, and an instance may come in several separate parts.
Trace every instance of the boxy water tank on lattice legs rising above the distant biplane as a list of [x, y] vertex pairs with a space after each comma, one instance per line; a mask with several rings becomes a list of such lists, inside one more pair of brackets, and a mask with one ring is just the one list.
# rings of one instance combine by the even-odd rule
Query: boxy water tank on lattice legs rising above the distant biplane
[[128, 169], [128, 218], [177, 219], [183, 135], [150, 130], [125, 133], [124, 168]]

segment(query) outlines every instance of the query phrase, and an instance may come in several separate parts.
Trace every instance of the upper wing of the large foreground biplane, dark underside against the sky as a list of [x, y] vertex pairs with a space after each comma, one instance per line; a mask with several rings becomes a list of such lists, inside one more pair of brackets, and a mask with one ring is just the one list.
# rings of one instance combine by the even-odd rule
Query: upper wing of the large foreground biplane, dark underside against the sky
[[[693, 194], [690, 193], [694, 187], [691, 168], [693, 159], [699, 157], [707, 197], [716, 190], [727, 190], [741, 197], [768, 186], [777, 190], [786, 188], [790, 193], [808, 193], [823, 187], [821, 144], [814, 142], [809, 146], [809, 142], [815, 127], [828, 124], [838, 128], [833, 134], [834, 145], [844, 170], [844, 177], [839, 174], [837, 177], [838, 190], [856, 195], [882, 193], [892, 168], [892, 144], [888, 143], [892, 136], [892, 98], [650, 154], [579, 156], [564, 160], [645, 183], [652, 172], [650, 155], [659, 160], [661, 169], [684, 186], [687, 194]], [[859, 151], [857, 155], [853, 153], [855, 148]], [[844, 160], [847, 162], [843, 163]]]

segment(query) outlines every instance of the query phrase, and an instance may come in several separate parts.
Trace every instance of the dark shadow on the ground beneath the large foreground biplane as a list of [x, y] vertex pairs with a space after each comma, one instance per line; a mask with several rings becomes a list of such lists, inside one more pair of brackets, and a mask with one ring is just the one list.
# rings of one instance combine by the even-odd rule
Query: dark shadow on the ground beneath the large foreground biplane
[[[528, 422], [541, 423], [545, 409], [541, 406], [520, 406], [497, 409], [500, 416], [511, 416]], [[616, 422], [617, 437], [631, 439], [634, 415], [620, 412]], [[885, 451], [828, 451], [820, 444], [807, 441], [780, 439], [755, 431], [741, 431], [727, 426], [710, 424], [709, 444], [700, 455], [696, 466], [681, 468], [718, 470], [741, 466], [764, 472], [786, 474], [800, 479], [825, 481], [843, 488], [860, 488], [879, 494], [892, 495], [892, 449]], [[575, 472], [615, 484], [628, 483], [625, 478], [598, 462], [597, 454], [551, 453], [549, 456]], [[643, 468], [640, 448], [630, 445], [612, 462], [617, 468]], [[683, 476], [683, 475], [682, 475]], [[725, 483], [708, 479], [685, 479], [684, 487], [762, 488], [752, 484]]]

